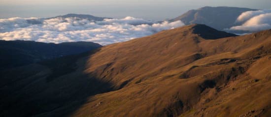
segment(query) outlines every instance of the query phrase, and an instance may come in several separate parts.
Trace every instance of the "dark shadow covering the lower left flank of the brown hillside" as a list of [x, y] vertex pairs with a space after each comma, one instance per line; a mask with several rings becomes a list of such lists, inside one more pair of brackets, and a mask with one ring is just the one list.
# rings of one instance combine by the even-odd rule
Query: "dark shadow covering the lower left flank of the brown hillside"
[[66, 117], [92, 95], [113, 90], [83, 71], [88, 56], [98, 51], [1, 71], [0, 117]]

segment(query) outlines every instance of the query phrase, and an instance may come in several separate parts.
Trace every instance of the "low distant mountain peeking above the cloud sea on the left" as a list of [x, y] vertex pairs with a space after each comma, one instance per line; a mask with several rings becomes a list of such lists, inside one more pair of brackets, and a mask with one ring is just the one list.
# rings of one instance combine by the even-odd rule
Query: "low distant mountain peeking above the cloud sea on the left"
[[[76, 17], [81, 19], [88, 19], [88, 20], [94, 20], [94, 21], [102, 21], [103, 19], [112, 19], [112, 18], [104, 18], [104, 17], [96, 17], [93, 15], [85, 15], [85, 14], [66, 14], [66, 15], [60, 15], [52, 18], [69, 18], [69, 17]], [[47, 18], [47, 19], [52, 19]]]

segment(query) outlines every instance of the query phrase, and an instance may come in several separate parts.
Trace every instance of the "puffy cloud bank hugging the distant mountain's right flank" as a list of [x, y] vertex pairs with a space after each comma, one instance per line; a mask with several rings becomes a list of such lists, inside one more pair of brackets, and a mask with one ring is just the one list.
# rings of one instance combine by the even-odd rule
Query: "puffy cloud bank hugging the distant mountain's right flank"
[[230, 30], [255, 32], [271, 29], [271, 9], [243, 12], [237, 18], [237, 22], [242, 22], [243, 24], [241, 26], [232, 27]]

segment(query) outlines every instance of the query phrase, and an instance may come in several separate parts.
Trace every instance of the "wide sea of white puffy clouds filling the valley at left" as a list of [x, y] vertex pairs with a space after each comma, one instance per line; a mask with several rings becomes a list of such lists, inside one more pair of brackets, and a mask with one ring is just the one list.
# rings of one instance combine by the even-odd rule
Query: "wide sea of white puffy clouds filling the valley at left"
[[91, 41], [107, 45], [181, 26], [184, 26], [181, 21], [158, 23], [133, 17], [97, 22], [80, 18], [9, 18], [0, 19], [0, 39], [47, 43]]

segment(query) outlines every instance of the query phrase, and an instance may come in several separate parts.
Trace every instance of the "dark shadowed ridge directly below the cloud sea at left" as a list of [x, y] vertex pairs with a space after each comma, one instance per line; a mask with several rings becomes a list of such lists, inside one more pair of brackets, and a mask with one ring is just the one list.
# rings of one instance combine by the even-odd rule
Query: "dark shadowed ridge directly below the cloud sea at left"
[[0, 40], [0, 70], [45, 59], [79, 54], [102, 47], [93, 42], [65, 42], [60, 44], [35, 41]]

